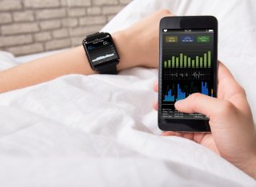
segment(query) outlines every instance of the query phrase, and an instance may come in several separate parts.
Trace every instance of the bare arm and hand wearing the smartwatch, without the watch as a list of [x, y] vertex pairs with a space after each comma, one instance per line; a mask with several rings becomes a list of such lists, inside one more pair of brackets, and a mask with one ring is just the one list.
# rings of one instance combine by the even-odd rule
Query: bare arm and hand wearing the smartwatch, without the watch
[[[118, 70], [133, 66], [158, 67], [158, 26], [162, 17], [170, 15], [169, 10], [159, 10], [126, 30], [112, 34], [120, 58]], [[94, 74], [82, 46], [2, 71], [0, 93], [66, 74]]]

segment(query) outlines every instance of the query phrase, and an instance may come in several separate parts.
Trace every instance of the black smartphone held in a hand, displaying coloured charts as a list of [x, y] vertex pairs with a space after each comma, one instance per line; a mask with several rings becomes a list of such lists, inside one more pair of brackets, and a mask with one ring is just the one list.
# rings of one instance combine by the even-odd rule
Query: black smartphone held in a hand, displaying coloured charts
[[181, 113], [174, 103], [194, 93], [217, 97], [217, 19], [162, 18], [159, 34], [159, 129], [210, 132], [208, 117], [202, 113]]

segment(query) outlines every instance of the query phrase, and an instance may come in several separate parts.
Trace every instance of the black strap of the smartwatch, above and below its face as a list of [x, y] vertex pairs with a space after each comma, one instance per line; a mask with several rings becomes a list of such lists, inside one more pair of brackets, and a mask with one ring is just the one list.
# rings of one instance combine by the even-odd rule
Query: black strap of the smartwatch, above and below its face
[[[95, 38], [104, 37], [105, 34], [106, 33], [103, 33], [103, 32], [90, 34], [90, 35], [86, 36], [86, 39], [88, 41], [91, 41], [91, 40], [94, 40]], [[117, 63], [116, 62], [109, 63], [109, 64], [106, 64], [104, 66], [100, 66], [100, 67], [97, 68], [97, 70], [98, 70], [99, 74], [118, 74]]]

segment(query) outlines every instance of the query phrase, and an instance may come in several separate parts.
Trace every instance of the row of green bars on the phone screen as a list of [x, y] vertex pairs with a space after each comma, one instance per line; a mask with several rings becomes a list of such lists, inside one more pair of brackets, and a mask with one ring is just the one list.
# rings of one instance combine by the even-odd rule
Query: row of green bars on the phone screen
[[190, 56], [187, 54], [174, 54], [170, 59], [163, 61], [164, 68], [210, 68], [211, 52]]

